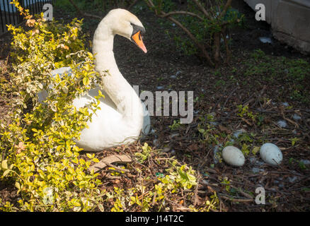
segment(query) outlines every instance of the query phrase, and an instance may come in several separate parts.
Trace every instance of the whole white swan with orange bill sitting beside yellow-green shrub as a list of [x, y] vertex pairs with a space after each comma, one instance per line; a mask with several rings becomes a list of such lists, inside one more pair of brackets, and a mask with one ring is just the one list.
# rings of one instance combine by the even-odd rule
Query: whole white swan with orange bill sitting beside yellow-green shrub
[[[76, 144], [89, 151], [100, 151], [115, 145], [122, 145], [137, 141], [142, 133], [149, 133], [150, 119], [147, 109], [139, 99], [132, 86], [125, 80], [117, 68], [113, 53], [115, 35], [127, 37], [145, 53], [147, 49], [142, 41], [144, 26], [139, 19], [125, 9], [113, 9], [101, 23], [93, 36], [93, 54], [96, 54], [95, 66], [99, 73], [108, 70], [110, 75], [103, 76], [103, 90], [105, 95], [101, 99], [101, 109], [93, 114], [92, 121], [88, 121], [89, 128], [81, 131], [80, 140]], [[53, 71], [65, 73], [70, 68]], [[76, 109], [84, 107], [86, 103], [98, 95], [98, 89], [90, 90], [87, 95], [76, 98], [73, 105]], [[46, 98], [39, 93], [39, 101]]]

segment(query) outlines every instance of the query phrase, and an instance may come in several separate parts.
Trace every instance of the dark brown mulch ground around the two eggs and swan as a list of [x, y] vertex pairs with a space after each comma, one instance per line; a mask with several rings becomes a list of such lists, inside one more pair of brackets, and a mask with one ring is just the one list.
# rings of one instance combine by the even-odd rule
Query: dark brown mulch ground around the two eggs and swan
[[[155, 93], [158, 90], [176, 90], [194, 92], [194, 119], [190, 124], [171, 129], [174, 120], [178, 117], [151, 117], [154, 133], [143, 138], [133, 145], [111, 148], [96, 153], [101, 160], [112, 153], [127, 153], [132, 155], [141, 150], [141, 145], [147, 142], [154, 149], [163, 150], [161, 158], [174, 156], [179, 162], [187, 164], [197, 170], [199, 174], [198, 186], [195, 196], [191, 199], [195, 206], [202, 206], [208, 196], [217, 191], [220, 211], [309, 211], [310, 210], [310, 182], [309, 165], [301, 165], [300, 160], [310, 160], [310, 109], [309, 102], [291, 100], [284, 89], [285, 84], [266, 82], [260, 76], [245, 78], [243, 76], [244, 62], [251, 57], [254, 49], [262, 49], [268, 56], [283, 56], [287, 58], [306, 57], [291, 47], [272, 39], [272, 44], [264, 44], [258, 37], [268, 36], [270, 26], [254, 19], [254, 12], [243, 1], [236, 1], [234, 7], [246, 14], [248, 21], [246, 28], [234, 30], [231, 37], [231, 62], [219, 69], [211, 69], [195, 56], [185, 56], [178, 50], [176, 44], [166, 35], [165, 29], [171, 33], [182, 35], [182, 32], [171, 25], [167, 28], [150, 11], [140, 11], [137, 16], [144, 23], [147, 30], [144, 44], [148, 53], [144, 54], [123, 37], [115, 37], [115, 59], [123, 76], [132, 85], [139, 85], [139, 90], [149, 90]], [[54, 17], [59, 20], [70, 20], [72, 16], [55, 8]], [[76, 16], [76, 15], [75, 15]], [[86, 18], [88, 20], [89, 18]], [[92, 37], [98, 21], [89, 19], [86, 32]], [[1, 64], [5, 64], [9, 51], [9, 36], [2, 37]], [[171, 78], [173, 76], [173, 78]], [[305, 81], [309, 84], [308, 80]], [[163, 88], [159, 89], [159, 86]], [[285, 107], [287, 102], [290, 107]], [[5, 111], [4, 101], [0, 102], [1, 112]], [[238, 105], [248, 105], [248, 110], [263, 115], [262, 124], [253, 123], [238, 115]], [[302, 119], [292, 119], [294, 113]], [[200, 126], [206, 126], [207, 114], [214, 116], [213, 136], [219, 138], [217, 142], [208, 143], [198, 131]], [[203, 121], [205, 119], [205, 121]], [[287, 126], [277, 125], [278, 120], [286, 120]], [[252, 134], [249, 149], [260, 146], [265, 142], [275, 143], [283, 153], [282, 164], [271, 167], [263, 163], [259, 153], [249, 153], [243, 167], [231, 167], [217, 158], [214, 147], [224, 145], [233, 137], [234, 131], [243, 129]], [[224, 134], [225, 136], [222, 136]], [[292, 145], [292, 138], [298, 138]], [[242, 148], [242, 147], [239, 147]], [[152, 177], [156, 180], [156, 173], [164, 172], [168, 166], [163, 162], [159, 164], [155, 159], [159, 156], [149, 157], [144, 163], [149, 167], [143, 174], [131, 170], [130, 174], [120, 177], [110, 177], [108, 170], [101, 171], [102, 187], [112, 189], [113, 186], [130, 188], [141, 178]], [[82, 155], [83, 157], [83, 155]], [[137, 162], [133, 167], [141, 167]], [[225, 184], [224, 182], [229, 182]], [[229, 189], [227, 189], [227, 185]], [[147, 186], [153, 186], [151, 182]], [[265, 189], [265, 205], [258, 205], [254, 201], [258, 186]], [[0, 186], [0, 196], [4, 200], [16, 197], [14, 189]], [[188, 198], [171, 197], [168, 203], [170, 210], [184, 211], [187, 208]], [[173, 200], [173, 201], [172, 201]], [[181, 201], [183, 200], [183, 201]], [[108, 210], [110, 206], [105, 206]], [[133, 209], [134, 210], [134, 209]]]

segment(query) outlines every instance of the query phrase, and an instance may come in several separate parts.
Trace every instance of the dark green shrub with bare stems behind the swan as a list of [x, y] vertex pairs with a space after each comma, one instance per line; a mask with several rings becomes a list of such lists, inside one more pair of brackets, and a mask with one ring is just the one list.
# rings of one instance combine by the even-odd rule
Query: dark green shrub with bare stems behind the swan
[[185, 37], [174, 35], [178, 48], [185, 54], [195, 54], [210, 66], [229, 61], [228, 30], [243, 25], [244, 18], [231, 8], [231, 0], [188, 0], [186, 11], [171, 0], [145, 1], [157, 16], [171, 20], [185, 32]]

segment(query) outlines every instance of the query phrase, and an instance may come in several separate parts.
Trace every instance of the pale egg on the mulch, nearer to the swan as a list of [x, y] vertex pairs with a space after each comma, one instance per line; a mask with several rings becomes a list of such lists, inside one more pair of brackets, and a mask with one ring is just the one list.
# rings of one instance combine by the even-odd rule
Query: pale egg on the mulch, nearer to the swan
[[242, 151], [234, 146], [226, 146], [222, 150], [222, 157], [226, 163], [235, 167], [241, 167], [246, 162]]

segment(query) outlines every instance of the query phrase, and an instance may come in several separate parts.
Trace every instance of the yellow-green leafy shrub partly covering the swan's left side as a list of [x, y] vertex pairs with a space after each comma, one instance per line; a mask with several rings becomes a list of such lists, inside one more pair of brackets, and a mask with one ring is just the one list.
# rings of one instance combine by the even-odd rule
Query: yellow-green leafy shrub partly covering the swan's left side
[[[0, 210], [86, 211], [98, 208], [103, 192], [98, 174], [88, 173], [94, 155], [79, 158], [75, 145], [99, 101], [85, 108], [72, 105], [101, 79], [93, 55], [84, 48], [81, 20], [63, 25], [35, 18], [13, 1], [29, 29], [8, 26], [13, 39], [10, 73], [13, 99], [11, 124], [0, 122], [0, 179], [14, 184], [16, 203]], [[70, 66], [71, 74], [50, 76], [52, 69]], [[38, 92], [47, 90], [44, 103]], [[98, 95], [101, 95], [100, 93]]]

